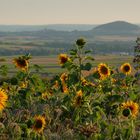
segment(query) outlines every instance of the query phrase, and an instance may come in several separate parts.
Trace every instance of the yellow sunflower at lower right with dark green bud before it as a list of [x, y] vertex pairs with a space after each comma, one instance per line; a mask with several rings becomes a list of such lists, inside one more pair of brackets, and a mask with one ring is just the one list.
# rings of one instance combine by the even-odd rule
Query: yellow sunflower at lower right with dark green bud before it
[[133, 101], [127, 101], [126, 103], [122, 103], [122, 109], [125, 117], [128, 117], [130, 114], [132, 117], [136, 117], [139, 111], [139, 105]]

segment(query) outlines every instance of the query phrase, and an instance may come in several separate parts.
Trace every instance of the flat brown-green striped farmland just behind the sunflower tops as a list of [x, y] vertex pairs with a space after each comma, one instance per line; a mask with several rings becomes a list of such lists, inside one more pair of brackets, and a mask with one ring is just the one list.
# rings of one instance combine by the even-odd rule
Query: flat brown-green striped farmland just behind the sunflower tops
[[[9, 68], [9, 74], [15, 73], [17, 70], [15, 69], [15, 66], [13, 65], [13, 59], [17, 56], [12, 57], [1, 57], [0, 60], [4, 59], [4, 61], [1, 61], [1, 64], [6, 64]], [[120, 66], [124, 62], [132, 63], [133, 56], [127, 56], [127, 55], [95, 55], [93, 56], [95, 61], [93, 62], [93, 66], [97, 66], [99, 63], [107, 63], [110, 66]], [[50, 55], [50, 56], [33, 56], [30, 62], [31, 66], [34, 64], [39, 65], [42, 69], [40, 73], [47, 73], [47, 74], [58, 74], [62, 73], [64, 70], [61, 69], [61, 66], [59, 64], [58, 55]]]

